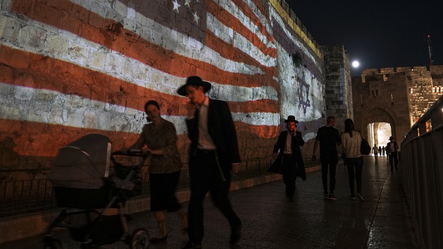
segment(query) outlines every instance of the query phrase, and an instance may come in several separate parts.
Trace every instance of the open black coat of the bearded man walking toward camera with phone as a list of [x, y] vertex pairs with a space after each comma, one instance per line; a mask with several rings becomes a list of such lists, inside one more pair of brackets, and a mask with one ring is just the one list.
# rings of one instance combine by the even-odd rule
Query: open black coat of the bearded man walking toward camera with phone
[[[277, 143], [274, 146], [273, 153], [277, 153], [280, 150], [279, 155], [277, 156], [274, 163], [269, 168], [269, 172], [273, 173], [279, 173], [281, 174], [281, 168], [282, 168], [282, 161], [283, 161], [283, 151], [285, 150], [286, 146], [286, 138], [288, 137], [288, 131], [282, 131], [280, 132], [279, 139], [277, 140]], [[300, 176], [301, 179], [306, 180], [306, 171], [304, 169], [304, 163], [303, 163], [303, 157], [301, 156], [301, 150], [300, 146], [304, 145], [303, 137], [301, 136], [301, 132], [297, 131], [296, 136], [291, 136], [291, 149], [292, 149], [292, 155], [296, 159], [297, 165], [294, 165], [294, 167], [297, 167], [297, 176]]]

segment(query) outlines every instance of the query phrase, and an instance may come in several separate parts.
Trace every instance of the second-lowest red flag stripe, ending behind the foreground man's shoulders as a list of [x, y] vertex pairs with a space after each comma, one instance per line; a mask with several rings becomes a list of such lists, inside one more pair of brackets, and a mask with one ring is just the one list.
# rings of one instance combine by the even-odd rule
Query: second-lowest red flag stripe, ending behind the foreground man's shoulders
[[[144, 111], [145, 102], [148, 99], [155, 99], [158, 102], [169, 104], [167, 108], [162, 109], [162, 114], [174, 116], [185, 116], [187, 114], [184, 108], [180, 108], [187, 101], [184, 97], [147, 89], [131, 82], [48, 56], [2, 45], [0, 45], [0, 51], [0, 63], [10, 66], [2, 67], [2, 72], [5, 73], [0, 74], [0, 82], [36, 89], [48, 89], [64, 94], [74, 94], [142, 112]], [[279, 112], [277, 100], [260, 99], [255, 101], [228, 102], [228, 104], [232, 112]], [[166, 111], [168, 113], [165, 113]]]

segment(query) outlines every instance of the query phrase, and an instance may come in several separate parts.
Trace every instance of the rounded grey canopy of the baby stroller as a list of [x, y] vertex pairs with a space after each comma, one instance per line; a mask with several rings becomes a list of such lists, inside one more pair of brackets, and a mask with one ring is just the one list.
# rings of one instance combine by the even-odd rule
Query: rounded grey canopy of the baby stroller
[[85, 135], [60, 149], [48, 178], [56, 187], [99, 189], [109, 176], [110, 157], [107, 136]]

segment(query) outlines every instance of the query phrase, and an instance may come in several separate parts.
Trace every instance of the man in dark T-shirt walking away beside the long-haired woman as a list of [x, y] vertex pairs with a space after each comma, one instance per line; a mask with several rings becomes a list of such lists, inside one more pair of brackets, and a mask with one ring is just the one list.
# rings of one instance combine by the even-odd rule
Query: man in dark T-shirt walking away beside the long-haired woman
[[[315, 137], [314, 149], [312, 152], [312, 161], [315, 161], [317, 156], [317, 148], [320, 144], [320, 162], [322, 165], [322, 183], [323, 183], [323, 198], [336, 200], [334, 195], [335, 190], [335, 172], [338, 163], [337, 146], [342, 144], [338, 130], [334, 128], [335, 117], [329, 116], [326, 119], [326, 126], [320, 127], [317, 130]], [[328, 192], [328, 168], [329, 168], [329, 192]]]

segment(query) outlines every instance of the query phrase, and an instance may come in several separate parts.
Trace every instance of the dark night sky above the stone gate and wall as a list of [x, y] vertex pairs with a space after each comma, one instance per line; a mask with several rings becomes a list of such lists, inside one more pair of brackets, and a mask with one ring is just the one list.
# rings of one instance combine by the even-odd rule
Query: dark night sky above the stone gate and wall
[[286, 0], [320, 45], [344, 44], [365, 68], [443, 65], [443, 1]]

